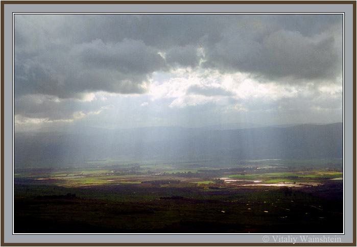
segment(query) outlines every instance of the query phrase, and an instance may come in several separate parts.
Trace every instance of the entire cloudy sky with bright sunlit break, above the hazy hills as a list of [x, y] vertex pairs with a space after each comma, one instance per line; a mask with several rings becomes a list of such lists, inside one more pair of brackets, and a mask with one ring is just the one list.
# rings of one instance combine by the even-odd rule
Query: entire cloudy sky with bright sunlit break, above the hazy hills
[[15, 14], [15, 131], [343, 120], [338, 14]]

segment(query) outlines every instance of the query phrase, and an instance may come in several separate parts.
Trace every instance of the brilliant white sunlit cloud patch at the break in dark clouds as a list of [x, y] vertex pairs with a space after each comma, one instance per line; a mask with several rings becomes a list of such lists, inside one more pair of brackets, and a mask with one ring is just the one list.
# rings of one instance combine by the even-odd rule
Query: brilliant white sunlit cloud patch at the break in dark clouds
[[[276, 101], [287, 97], [311, 96], [308, 85], [299, 87], [274, 82], [259, 83], [248, 74], [240, 72], [222, 74], [217, 70], [193, 70], [191, 68], [180, 68], [171, 72], [170, 77], [169, 75], [164, 77], [156, 75], [157, 79], [163, 80], [152, 81], [148, 93], [152, 101], [173, 98], [171, 108], [203, 105], [209, 102], [227, 105], [229, 97], [235, 100]], [[192, 87], [201, 89], [202, 92], [190, 91]]]

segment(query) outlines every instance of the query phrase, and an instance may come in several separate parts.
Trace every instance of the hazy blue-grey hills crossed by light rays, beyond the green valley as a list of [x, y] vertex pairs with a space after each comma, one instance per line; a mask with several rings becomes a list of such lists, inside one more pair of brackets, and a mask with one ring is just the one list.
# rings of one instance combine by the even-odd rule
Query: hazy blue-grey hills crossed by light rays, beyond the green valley
[[[240, 160], [342, 158], [343, 124], [245, 128], [74, 128], [15, 133], [15, 167], [102, 159]], [[236, 129], [230, 129], [236, 128]], [[43, 131], [43, 130], [42, 130]]]

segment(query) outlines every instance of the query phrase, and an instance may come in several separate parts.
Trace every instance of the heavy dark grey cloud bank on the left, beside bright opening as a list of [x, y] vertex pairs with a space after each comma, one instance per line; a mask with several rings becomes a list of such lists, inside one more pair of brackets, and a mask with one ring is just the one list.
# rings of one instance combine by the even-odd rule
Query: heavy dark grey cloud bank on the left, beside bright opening
[[44, 50], [36, 56], [15, 54], [15, 95], [40, 93], [62, 98], [81, 92], [144, 93], [163, 58], [141, 41], [104, 44], [101, 40], [70, 50]]

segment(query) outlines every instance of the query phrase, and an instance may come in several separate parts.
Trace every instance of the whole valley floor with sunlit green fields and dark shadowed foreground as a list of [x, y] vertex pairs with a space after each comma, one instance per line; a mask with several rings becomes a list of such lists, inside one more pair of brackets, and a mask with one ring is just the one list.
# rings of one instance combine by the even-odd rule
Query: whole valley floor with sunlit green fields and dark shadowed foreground
[[341, 233], [341, 160], [82, 164], [14, 174], [15, 233]]

